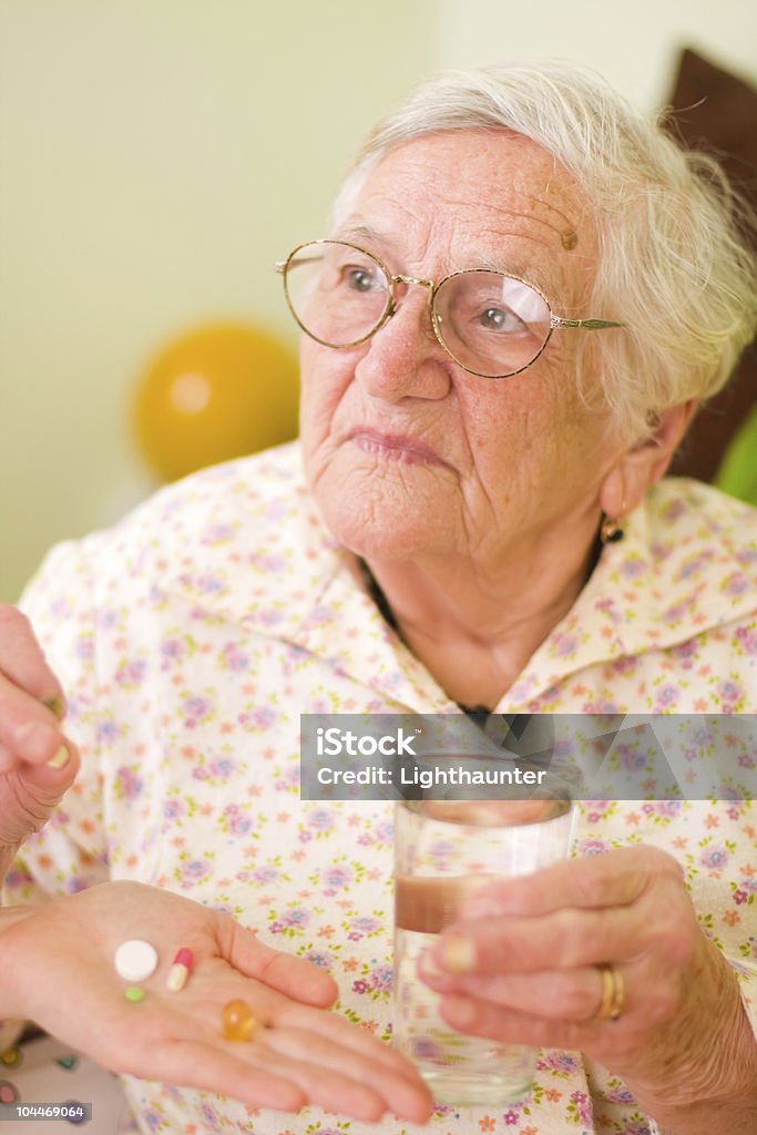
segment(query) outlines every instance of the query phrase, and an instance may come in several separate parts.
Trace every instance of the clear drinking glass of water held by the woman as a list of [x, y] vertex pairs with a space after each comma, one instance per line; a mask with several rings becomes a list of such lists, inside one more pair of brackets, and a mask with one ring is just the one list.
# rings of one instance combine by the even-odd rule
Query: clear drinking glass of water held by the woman
[[571, 826], [565, 800], [413, 800], [396, 807], [393, 1041], [439, 1103], [522, 1100], [536, 1049], [451, 1028], [439, 1014], [439, 994], [418, 976], [421, 955], [476, 890], [564, 858]]

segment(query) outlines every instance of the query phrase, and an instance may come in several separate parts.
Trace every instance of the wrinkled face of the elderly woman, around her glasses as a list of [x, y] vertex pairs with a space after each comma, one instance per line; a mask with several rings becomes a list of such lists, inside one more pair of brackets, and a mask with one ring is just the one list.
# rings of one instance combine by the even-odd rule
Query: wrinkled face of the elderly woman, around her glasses
[[[597, 241], [578, 186], [506, 132], [431, 134], [392, 151], [331, 235], [398, 275], [498, 268], [536, 284], [557, 314], [602, 314], [587, 310]], [[617, 449], [577, 393], [577, 336], [592, 333], [556, 330], [528, 370], [478, 378], [437, 342], [428, 288], [402, 285], [398, 296], [360, 346], [303, 336], [305, 473], [333, 535], [369, 558], [496, 566], [596, 514]]]

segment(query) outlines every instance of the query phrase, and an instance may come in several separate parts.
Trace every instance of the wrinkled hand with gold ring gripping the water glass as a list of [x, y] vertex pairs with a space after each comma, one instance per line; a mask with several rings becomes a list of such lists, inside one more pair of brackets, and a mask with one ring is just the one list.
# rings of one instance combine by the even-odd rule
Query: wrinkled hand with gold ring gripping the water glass
[[[701, 933], [680, 866], [655, 848], [481, 889], [429, 962], [421, 976], [445, 994], [455, 1028], [579, 1049], [622, 1076], [655, 1118], [695, 1101], [751, 1099], [757, 1086], [735, 976]], [[614, 992], [620, 1016], [602, 1019]]]

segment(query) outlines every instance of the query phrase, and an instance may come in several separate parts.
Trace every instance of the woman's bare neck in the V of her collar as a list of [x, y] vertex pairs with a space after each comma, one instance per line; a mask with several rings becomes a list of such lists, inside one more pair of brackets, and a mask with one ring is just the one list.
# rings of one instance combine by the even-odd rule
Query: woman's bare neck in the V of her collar
[[375, 597], [449, 697], [494, 709], [573, 606], [598, 547], [530, 556], [485, 573], [470, 563], [370, 557]]

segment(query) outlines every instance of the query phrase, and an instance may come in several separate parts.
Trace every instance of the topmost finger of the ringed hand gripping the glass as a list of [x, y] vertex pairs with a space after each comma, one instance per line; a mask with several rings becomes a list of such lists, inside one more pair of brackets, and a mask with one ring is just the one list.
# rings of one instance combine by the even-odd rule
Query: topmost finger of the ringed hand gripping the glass
[[465, 903], [465, 917], [540, 915], [561, 907], [591, 910], [636, 902], [661, 874], [681, 877], [672, 856], [653, 847], [619, 848], [565, 859], [530, 875], [498, 880]]

